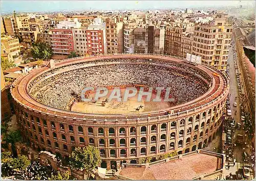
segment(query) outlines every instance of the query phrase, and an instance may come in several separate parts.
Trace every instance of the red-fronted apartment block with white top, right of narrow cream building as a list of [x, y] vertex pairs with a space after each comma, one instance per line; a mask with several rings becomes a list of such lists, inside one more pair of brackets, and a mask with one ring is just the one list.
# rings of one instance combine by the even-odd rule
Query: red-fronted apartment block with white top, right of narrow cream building
[[88, 26], [87, 35], [87, 54], [98, 55], [107, 53], [106, 26], [101, 18], [95, 18], [93, 24]]

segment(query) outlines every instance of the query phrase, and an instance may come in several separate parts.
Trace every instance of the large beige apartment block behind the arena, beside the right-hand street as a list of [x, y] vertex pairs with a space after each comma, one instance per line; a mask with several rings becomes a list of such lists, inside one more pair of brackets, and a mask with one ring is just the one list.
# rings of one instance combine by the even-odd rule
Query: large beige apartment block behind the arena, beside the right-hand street
[[201, 56], [202, 62], [225, 70], [232, 37], [227, 18], [217, 17], [207, 24], [196, 24], [191, 53]]

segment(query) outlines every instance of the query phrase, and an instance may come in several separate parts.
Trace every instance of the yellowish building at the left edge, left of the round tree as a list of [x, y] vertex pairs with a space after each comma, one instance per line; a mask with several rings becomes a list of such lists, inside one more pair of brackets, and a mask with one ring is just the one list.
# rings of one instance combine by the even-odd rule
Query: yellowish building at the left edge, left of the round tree
[[20, 46], [18, 38], [11, 36], [1, 37], [1, 56], [6, 57], [9, 61], [14, 61], [19, 64], [22, 59], [20, 58]]

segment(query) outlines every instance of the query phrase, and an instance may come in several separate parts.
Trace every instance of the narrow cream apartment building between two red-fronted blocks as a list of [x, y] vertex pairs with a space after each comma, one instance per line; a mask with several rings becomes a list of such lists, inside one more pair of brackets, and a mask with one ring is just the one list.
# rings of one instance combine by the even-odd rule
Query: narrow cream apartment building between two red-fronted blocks
[[73, 29], [74, 35], [74, 49], [76, 54], [84, 56], [87, 52], [87, 28], [75, 28]]

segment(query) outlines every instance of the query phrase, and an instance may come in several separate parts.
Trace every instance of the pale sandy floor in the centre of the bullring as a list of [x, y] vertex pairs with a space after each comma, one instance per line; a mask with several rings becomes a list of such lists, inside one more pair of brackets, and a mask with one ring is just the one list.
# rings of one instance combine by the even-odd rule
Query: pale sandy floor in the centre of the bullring
[[[113, 89], [109, 89], [108, 94], [104, 97], [100, 97], [95, 104], [93, 102], [74, 102], [71, 111], [95, 114], [139, 114], [141, 112], [157, 111], [170, 107], [169, 102], [163, 101], [163, 98], [161, 102], [152, 101], [156, 97], [156, 93], [152, 93], [151, 101], [146, 101], [146, 96], [142, 96], [142, 100], [138, 101], [137, 93], [135, 96], [129, 97], [127, 101], [120, 102], [117, 101], [117, 99], [112, 99], [111, 101], [105, 102], [105, 106], [102, 106], [102, 101], [109, 98], [112, 90]], [[124, 91], [125, 88], [120, 88], [121, 96], [124, 95]], [[95, 92], [91, 91], [88, 98], [94, 97]], [[140, 106], [143, 106], [143, 108], [136, 111], [136, 108]]]

